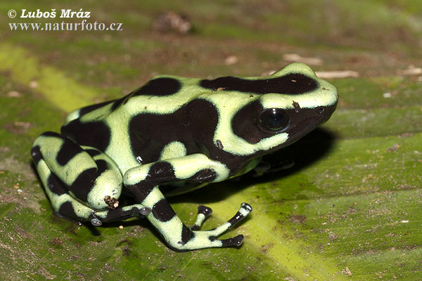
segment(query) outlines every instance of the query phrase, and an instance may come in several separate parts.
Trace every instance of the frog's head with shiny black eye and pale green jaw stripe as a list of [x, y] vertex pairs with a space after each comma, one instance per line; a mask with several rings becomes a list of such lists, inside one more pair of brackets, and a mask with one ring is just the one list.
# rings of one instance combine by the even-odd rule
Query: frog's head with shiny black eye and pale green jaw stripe
[[247, 88], [253, 97], [231, 119], [236, 140], [226, 141], [224, 150], [236, 155], [264, 155], [298, 141], [326, 122], [338, 101], [335, 87], [301, 63], [229, 88]]

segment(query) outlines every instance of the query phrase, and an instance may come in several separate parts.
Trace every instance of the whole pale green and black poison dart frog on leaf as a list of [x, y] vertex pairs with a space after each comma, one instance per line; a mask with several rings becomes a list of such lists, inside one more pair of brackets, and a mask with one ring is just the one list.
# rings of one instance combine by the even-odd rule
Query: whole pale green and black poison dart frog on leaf
[[200, 205], [188, 227], [167, 198], [265, 174], [264, 155], [326, 122], [337, 103], [335, 86], [302, 63], [267, 77], [159, 75], [127, 96], [70, 112], [60, 133], [34, 140], [31, 154], [58, 216], [92, 226], [146, 218], [175, 251], [239, 247], [243, 235], [219, 237], [250, 204], [201, 230], [210, 207]]

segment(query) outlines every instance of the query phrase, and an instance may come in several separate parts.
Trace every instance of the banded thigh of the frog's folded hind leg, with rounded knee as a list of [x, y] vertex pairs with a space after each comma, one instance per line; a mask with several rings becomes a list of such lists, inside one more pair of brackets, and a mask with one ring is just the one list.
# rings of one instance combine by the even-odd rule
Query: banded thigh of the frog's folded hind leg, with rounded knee
[[[50, 174], [63, 183], [63, 190], [72, 192], [92, 209], [104, 209], [107, 202], [120, 197], [122, 175], [113, 160], [99, 150], [46, 132], [34, 141], [32, 153], [39, 154]], [[52, 178], [50, 175], [44, 178], [45, 187], [49, 187]]]

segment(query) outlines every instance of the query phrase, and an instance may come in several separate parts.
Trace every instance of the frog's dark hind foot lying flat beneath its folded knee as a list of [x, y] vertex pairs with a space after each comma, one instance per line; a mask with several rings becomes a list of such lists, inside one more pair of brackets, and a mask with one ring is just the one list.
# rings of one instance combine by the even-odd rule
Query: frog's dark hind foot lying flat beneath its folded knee
[[143, 206], [142, 204], [133, 204], [125, 207], [117, 207], [115, 209], [96, 211], [89, 216], [89, 220], [93, 226], [101, 226], [103, 223], [123, 221], [127, 218], [132, 218], [133, 216], [143, 218], [150, 213], [151, 209]]

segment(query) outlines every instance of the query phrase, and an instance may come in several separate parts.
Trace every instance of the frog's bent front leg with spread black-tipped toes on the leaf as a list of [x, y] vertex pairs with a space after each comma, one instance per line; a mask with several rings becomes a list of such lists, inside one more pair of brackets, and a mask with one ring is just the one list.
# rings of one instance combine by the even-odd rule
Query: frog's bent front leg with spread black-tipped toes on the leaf
[[123, 182], [134, 194], [137, 202], [151, 209], [151, 214], [148, 214], [146, 218], [160, 232], [167, 244], [173, 249], [184, 251], [242, 244], [243, 235], [225, 240], [217, 240], [217, 237], [241, 221], [252, 211], [252, 208], [249, 204], [243, 203], [237, 214], [229, 221], [213, 230], [201, 231], [198, 229], [211, 210], [200, 207], [197, 221], [190, 229], [174, 213], [158, 185], [172, 181], [222, 181], [228, 176], [229, 171], [224, 164], [212, 161], [205, 155], [195, 154], [129, 169], [124, 174]]

